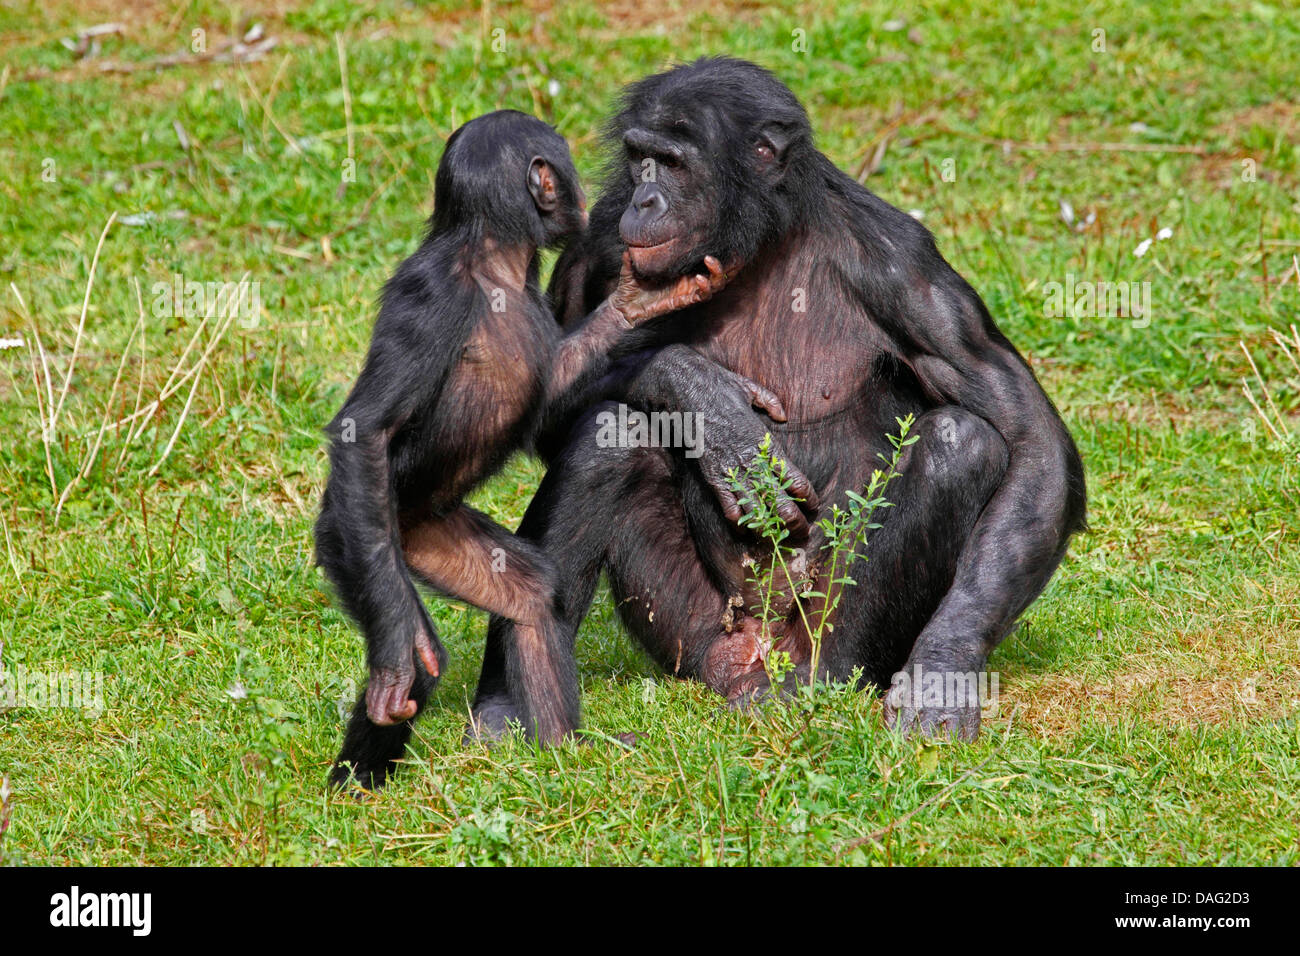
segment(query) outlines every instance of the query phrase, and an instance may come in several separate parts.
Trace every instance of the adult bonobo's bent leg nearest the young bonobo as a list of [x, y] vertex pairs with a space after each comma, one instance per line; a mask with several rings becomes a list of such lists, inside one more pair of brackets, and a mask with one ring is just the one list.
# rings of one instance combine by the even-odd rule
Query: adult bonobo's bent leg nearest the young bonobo
[[[594, 416], [608, 407], [571, 434], [519, 533], [554, 562], [569, 648], [603, 567], [619, 617], [655, 662], [727, 696], [742, 675], [763, 669], [753, 628], [736, 610], [753, 542], [723, 515], [684, 450], [599, 447]], [[499, 736], [511, 721], [532, 726], [515, 691], [526, 675], [506, 665], [512, 640], [514, 623], [493, 618], [472, 734]], [[576, 726], [576, 678], [571, 689]]]

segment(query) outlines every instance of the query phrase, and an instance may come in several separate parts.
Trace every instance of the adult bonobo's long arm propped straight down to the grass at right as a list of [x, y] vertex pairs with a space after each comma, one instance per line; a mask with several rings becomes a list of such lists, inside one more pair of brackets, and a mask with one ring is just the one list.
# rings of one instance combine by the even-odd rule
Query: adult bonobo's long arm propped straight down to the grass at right
[[[902, 216], [902, 213], [898, 213]], [[926, 624], [909, 671], [980, 671], [1015, 618], [1039, 596], [1084, 524], [1083, 463], [1056, 407], [1015, 347], [997, 329], [975, 290], [916, 234], [892, 265], [870, 261], [844, 276], [893, 338], [931, 395], [979, 415], [1002, 436], [1009, 464], [958, 558], [953, 585]], [[876, 246], [876, 248], [880, 248]], [[884, 252], [881, 252], [884, 255]], [[978, 710], [904, 708], [906, 728], [971, 734]], [[974, 724], [974, 726], [972, 726]]]

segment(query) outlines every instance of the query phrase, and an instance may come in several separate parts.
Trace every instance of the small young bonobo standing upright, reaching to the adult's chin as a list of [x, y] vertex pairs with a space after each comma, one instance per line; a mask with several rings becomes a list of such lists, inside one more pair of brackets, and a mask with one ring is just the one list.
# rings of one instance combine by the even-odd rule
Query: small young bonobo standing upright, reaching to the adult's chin
[[[549, 563], [462, 503], [547, 415], [581, 402], [633, 324], [703, 302], [707, 276], [618, 290], [564, 337], [538, 285], [537, 252], [586, 225], [568, 144], [524, 113], [472, 120], [447, 140], [420, 248], [384, 287], [361, 375], [329, 425], [330, 477], [316, 554], [365, 633], [369, 682], [332, 780], [381, 786], [447, 662], [410, 572], [517, 624], [507, 665], [525, 730], [554, 741], [566, 719]], [[580, 407], [580, 406], [577, 406]], [[576, 706], [576, 704], [575, 704]]]

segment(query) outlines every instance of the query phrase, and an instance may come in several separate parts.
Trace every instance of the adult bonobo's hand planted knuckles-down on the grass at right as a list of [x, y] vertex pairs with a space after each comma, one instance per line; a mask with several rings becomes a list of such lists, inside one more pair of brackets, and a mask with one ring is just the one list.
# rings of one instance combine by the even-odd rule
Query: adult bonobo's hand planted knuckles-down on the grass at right
[[979, 736], [983, 662], [909, 661], [884, 695], [885, 726], [904, 736]]

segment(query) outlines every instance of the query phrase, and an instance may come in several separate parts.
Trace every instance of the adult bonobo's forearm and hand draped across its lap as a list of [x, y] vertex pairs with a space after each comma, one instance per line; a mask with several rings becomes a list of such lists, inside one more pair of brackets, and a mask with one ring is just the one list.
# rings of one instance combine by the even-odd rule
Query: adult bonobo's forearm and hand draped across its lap
[[[733, 471], [741, 476], [748, 472], [758, 458], [763, 437], [772, 431], [770, 421], [754, 410], [767, 412], [771, 421], [785, 421], [781, 401], [762, 385], [684, 345], [671, 345], [656, 352], [630, 384], [628, 398], [642, 408], [699, 416], [703, 424], [699, 471], [718, 496], [723, 514], [729, 522], [738, 523], [744, 509], [731, 485], [731, 475]], [[809, 531], [803, 509], [816, 510], [816, 492], [803, 472], [785, 457], [775, 434], [772, 458], [785, 462], [785, 473], [790, 480], [789, 494], [781, 494], [776, 511], [790, 533], [802, 537]], [[802, 499], [802, 507], [796, 498]]]

